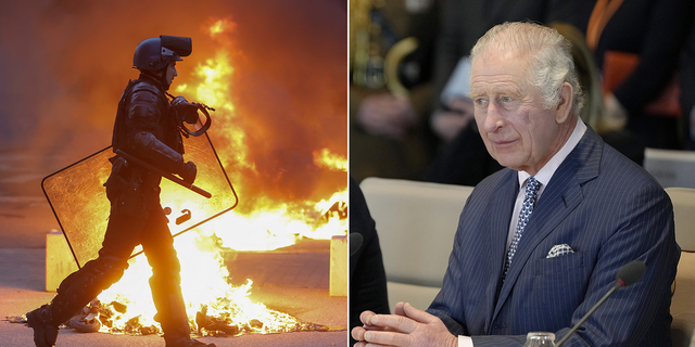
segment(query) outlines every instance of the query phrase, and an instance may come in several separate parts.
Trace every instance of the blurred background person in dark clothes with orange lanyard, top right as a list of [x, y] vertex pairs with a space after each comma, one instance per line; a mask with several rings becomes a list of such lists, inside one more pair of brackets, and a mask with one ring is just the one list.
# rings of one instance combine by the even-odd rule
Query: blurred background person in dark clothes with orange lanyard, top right
[[672, 87], [694, 7], [692, 0], [598, 0], [589, 22], [586, 41], [602, 69], [606, 119], [648, 147], [683, 147]]

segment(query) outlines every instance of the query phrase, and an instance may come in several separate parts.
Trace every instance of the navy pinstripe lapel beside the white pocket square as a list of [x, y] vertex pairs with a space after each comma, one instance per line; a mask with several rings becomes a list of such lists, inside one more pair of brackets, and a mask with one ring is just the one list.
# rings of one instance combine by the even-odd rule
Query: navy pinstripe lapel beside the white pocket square
[[601, 138], [587, 128], [582, 140], [553, 175], [523, 231], [514, 261], [500, 291], [493, 320], [509, 297], [519, 273], [527, 266], [536, 246], [582, 202], [581, 187], [598, 176], [602, 151]]

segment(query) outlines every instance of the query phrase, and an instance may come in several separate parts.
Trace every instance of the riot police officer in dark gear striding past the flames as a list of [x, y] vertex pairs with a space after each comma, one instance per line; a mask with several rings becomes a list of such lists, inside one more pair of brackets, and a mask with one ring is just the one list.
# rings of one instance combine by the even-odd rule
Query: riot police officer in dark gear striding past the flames
[[[177, 76], [176, 62], [191, 51], [188, 37], [160, 36], [138, 44], [132, 64], [140, 76], [128, 82], [121, 97], [112, 139], [114, 152], [124, 151], [189, 183], [195, 180], [197, 167], [184, 159], [181, 127], [182, 121], [198, 121], [198, 106], [182, 97], [169, 101], [166, 91]], [[111, 214], [99, 257], [68, 275], [49, 305], [26, 314], [36, 346], [54, 346], [59, 325], [121, 279], [138, 244], [152, 267], [154, 319], [162, 325], [166, 346], [215, 346], [190, 338], [180, 264], [160, 205], [162, 177], [118, 155], [110, 160], [112, 170], [104, 185]]]

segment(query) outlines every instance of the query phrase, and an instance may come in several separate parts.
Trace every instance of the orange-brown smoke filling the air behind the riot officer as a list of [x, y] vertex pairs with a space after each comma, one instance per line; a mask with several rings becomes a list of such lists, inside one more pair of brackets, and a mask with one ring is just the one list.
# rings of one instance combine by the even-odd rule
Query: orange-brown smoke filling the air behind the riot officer
[[[110, 145], [117, 101], [138, 75], [130, 68], [137, 43], [189, 36], [193, 53], [177, 65], [173, 89], [220, 46], [230, 50], [233, 125], [245, 133], [254, 164], [226, 167], [238, 209], [328, 198], [346, 187], [346, 175], [316, 166], [312, 153], [348, 155], [346, 9], [338, 0], [5, 3], [0, 149], [26, 150], [50, 174]], [[219, 20], [233, 30], [213, 38], [208, 27]], [[215, 144], [225, 136], [214, 126], [210, 133]], [[223, 157], [236, 150], [217, 147]]]

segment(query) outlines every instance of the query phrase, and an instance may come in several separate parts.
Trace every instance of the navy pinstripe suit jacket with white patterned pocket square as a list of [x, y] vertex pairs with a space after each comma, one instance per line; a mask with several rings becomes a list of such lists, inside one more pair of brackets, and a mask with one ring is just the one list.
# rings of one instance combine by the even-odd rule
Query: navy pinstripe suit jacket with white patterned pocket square
[[[501, 281], [517, 171], [473, 190], [460, 215], [442, 291], [428, 312], [478, 346], [521, 346], [532, 331], [557, 339], [641, 259], [641, 282], [616, 291], [564, 346], [670, 346], [670, 285], [680, 248], [673, 208], [640, 166], [589, 128], [559, 166]], [[554, 245], [574, 253], [546, 258]]]

